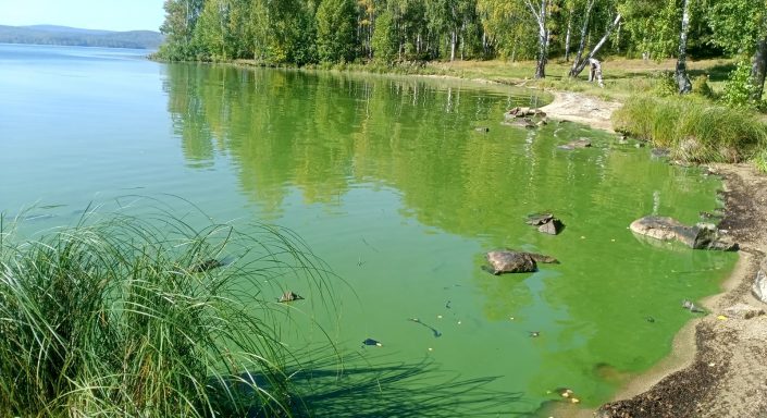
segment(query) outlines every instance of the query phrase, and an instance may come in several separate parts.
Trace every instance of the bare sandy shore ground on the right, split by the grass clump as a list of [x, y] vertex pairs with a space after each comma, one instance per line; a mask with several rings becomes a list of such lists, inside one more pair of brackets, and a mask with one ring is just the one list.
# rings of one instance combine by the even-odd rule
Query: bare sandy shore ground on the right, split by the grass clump
[[[619, 103], [576, 93], [556, 93], [542, 108], [553, 119], [610, 128]], [[599, 418], [767, 418], [767, 316], [740, 319], [726, 314], [735, 304], [767, 309], [751, 286], [767, 251], [767, 176], [747, 164], [716, 164], [725, 180], [721, 230], [741, 246], [740, 258], [722, 293], [703, 302], [709, 312], [691, 321], [675, 339], [671, 355], [633, 379]]]

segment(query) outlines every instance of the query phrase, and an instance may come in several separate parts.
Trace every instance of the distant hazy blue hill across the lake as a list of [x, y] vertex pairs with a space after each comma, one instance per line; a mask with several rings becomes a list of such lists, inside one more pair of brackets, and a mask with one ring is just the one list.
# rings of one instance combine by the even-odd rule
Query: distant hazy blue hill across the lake
[[0, 25], [0, 44], [157, 49], [164, 37], [152, 30], [95, 30], [55, 25]]

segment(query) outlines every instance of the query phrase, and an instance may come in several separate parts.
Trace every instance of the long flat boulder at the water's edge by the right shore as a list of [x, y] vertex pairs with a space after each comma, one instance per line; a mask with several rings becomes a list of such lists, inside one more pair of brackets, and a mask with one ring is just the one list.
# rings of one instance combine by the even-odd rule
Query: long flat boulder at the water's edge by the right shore
[[673, 218], [650, 216], [631, 222], [630, 229], [635, 234], [655, 239], [676, 239], [694, 249], [738, 249], [738, 244], [722, 237], [716, 225], [710, 223], [688, 226]]

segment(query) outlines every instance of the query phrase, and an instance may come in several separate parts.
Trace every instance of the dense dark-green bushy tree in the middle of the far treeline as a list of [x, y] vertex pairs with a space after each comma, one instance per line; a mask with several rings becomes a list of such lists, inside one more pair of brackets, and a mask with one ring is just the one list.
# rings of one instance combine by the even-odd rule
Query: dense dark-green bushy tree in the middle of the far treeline
[[317, 52], [321, 61], [351, 62], [357, 53], [354, 0], [323, 0], [317, 9]]

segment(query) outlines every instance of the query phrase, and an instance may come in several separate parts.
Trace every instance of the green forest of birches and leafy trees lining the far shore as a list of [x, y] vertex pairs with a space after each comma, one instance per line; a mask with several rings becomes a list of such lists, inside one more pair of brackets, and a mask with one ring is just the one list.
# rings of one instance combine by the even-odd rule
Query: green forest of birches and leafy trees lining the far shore
[[[686, 57], [735, 63], [731, 96], [759, 101], [767, 69], [764, 0], [166, 0], [158, 57], [264, 64], [422, 63], [552, 58], [578, 76], [592, 59]], [[733, 85], [734, 85], [733, 84]]]

